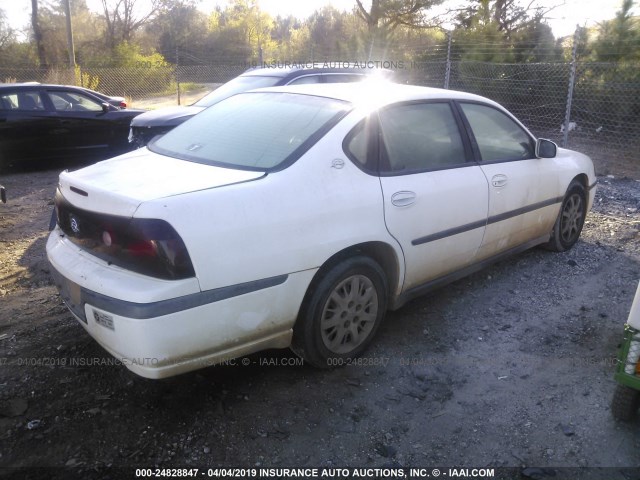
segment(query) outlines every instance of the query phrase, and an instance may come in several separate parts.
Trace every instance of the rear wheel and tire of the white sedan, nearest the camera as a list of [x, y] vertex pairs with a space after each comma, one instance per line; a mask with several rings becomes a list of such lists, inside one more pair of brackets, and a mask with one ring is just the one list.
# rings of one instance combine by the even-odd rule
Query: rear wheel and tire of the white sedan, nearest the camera
[[312, 284], [293, 330], [292, 349], [318, 368], [344, 365], [375, 336], [387, 309], [387, 281], [372, 259], [357, 256]]

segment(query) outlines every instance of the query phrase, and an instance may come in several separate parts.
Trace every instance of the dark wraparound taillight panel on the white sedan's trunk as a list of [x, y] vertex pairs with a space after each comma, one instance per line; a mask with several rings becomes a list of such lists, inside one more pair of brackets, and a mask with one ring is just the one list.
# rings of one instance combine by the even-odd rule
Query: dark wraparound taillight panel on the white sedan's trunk
[[166, 280], [195, 276], [184, 242], [166, 221], [88, 212], [56, 194], [58, 225], [69, 239], [109, 264]]

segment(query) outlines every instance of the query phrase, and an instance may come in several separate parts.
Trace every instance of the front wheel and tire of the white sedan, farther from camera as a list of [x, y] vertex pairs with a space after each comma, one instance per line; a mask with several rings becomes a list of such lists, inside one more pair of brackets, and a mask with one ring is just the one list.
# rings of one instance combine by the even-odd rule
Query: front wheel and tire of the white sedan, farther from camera
[[580, 238], [586, 216], [587, 195], [584, 186], [573, 181], [564, 196], [546, 248], [554, 252], [565, 252], [573, 247]]

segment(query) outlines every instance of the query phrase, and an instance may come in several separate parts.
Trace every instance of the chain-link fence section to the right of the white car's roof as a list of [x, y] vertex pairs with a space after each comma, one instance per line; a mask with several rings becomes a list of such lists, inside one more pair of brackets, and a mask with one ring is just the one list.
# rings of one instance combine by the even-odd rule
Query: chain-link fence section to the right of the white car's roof
[[618, 64], [453, 62], [449, 88], [509, 109], [539, 137], [590, 155], [608, 173], [640, 158], [640, 74]]

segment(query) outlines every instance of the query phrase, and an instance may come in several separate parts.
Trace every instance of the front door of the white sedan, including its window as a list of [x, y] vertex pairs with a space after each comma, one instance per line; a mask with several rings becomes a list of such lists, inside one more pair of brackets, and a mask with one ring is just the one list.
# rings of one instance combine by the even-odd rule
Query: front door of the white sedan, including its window
[[553, 163], [536, 158], [534, 138], [507, 113], [478, 102], [459, 105], [489, 183], [489, 219], [478, 258], [551, 232], [562, 202]]

